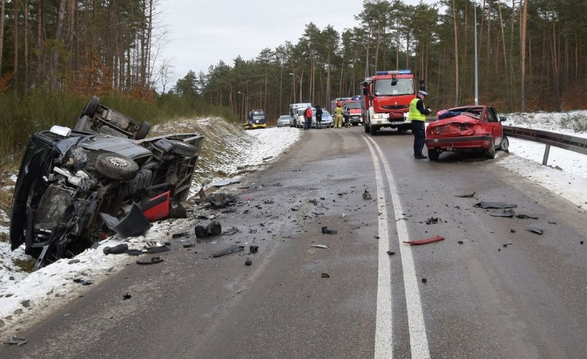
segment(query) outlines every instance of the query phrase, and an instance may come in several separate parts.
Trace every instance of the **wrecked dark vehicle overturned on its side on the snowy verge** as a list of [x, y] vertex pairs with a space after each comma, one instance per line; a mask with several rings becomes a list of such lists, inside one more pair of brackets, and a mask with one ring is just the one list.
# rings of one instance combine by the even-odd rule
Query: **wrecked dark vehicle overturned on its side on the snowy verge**
[[[110, 122], [116, 114], [116, 123]], [[124, 125], [124, 128], [122, 127]], [[150, 221], [185, 216], [203, 145], [196, 133], [144, 139], [138, 124], [93, 97], [76, 128], [32, 134], [14, 188], [10, 243], [39, 258], [78, 254], [118, 233], [143, 234]], [[116, 135], [114, 135], [116, 133]]]

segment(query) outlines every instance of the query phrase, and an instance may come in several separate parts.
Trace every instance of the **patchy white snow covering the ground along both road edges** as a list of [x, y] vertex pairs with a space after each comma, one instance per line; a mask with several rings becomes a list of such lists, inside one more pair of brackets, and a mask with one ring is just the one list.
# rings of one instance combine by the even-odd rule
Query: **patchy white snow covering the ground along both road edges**
[[[506, 125], [587, 137], [585, 132], [575, 133], [564, 128], [567, 125], [565, 121], [577, 116], [587, 119], [587, 111], [568, 114], [509, 114]], [[275, 161], [280, 154], [286, 152], [302, 134], [302, 131], [289, 127], [243, 132], [240, 128], [227, 126], [220, 119], [198, 119], [195, 122], [186, 120], [184, 125], [190, 132], [195, 127], [196, 131], [204, 134], [205, 150], [206, 147], [212, 149], [206, 153], [203, 151], [198, 160], [201, 175], [198, 178], [203, 178], [200, 179], [203, 182], [196, 183], [194, 190], [205, 187], [204, 183], [219, 179], [217, 176], [206, 178], [203, 176], [205, 173], [216, 172], [234, 178], [243, 169], [262, 169], [263, 165]], [[214, 128], [215, 131], [207, 132], [209, 128]], [[163, 125], [156, 130], [165, 132], [169, 129]], [[563, 196], [577, 207], [587, 209], [587, 191], [581, 192], [581, 189], [587, 188], [587, 156], [552, 147], [548, 166], [542, 166], [540, 163], [544, 145], [513, 138], [510, 139], [510, 154], [500, 153], [497, 163]], [[1, 218], [6, 221], [7, 216], [0, 210]], [[130, 238], [126, 243], [132, 249], [141, 249], [147, 240], [164, 241], [163, 238], [173, 232], [172, 227], [182, 227], [182, 221], [163, 221], [154, 225], [147, 236]], [[8, 228], [0, 225], [0, 234], [6, 232]], [[100, 248], [118, 243], [119, 240], [114, 238], [105, 241]], [[32, 274], [25, 273], [14, 265], [14, 260], [26, 259], [30, 259], [30, 256], [26, 256], [22, 249], [11, 252], [9, 243], [0, 242], [0, 340], [17, 335], [31, 322], [41, 319], [43, 313], [49, 313], [65, 302], [83, 295], [92, 285], [124, 265], [134, 262], [136, 258], [106, 256], [101, 249], [87, 249], [76, 256], [79, 263], [72, 263], [71, 259], [61, 259]], [[85, 284], [93, 284], [84, 286], [74, 280], [85, 280]]]

